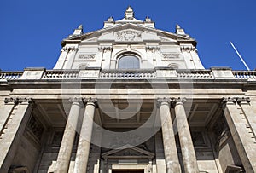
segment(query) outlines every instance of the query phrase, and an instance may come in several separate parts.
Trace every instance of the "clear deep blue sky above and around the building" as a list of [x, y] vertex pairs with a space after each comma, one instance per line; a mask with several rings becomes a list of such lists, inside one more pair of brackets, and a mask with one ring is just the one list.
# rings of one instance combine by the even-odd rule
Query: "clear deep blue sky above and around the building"
[[245, 70], [232, 41], [247, 65], [256, 68], [256, 1], [237, 0], [5, 0], [0, 2], [0, 69], [53, 68], [61, 40], [79, 24], [84, 32], [102, 28], [109, 16], [123, 18], [131, 5], [135, 16], [149, 16], [157, 28], [175, 31], [179, 24], [197, 40], [206, 68], [230, 66]]

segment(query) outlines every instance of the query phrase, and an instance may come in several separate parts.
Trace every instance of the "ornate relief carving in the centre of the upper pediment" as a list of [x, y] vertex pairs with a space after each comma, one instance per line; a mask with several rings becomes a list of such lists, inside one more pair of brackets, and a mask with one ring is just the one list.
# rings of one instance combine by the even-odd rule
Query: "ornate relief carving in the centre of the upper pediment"
[[142, 40], [142, 33], [132, 30], [125, 30], [122, 32], [116, 32], [117, 41], [140, 41]]

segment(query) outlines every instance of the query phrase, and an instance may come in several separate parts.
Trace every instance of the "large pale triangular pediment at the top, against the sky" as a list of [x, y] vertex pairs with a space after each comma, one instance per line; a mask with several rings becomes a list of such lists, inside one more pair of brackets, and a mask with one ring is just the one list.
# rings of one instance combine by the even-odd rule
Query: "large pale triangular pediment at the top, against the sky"
[[190, 41], [195, 42], [193, 38], [184, 37], [172, 32], [165, 32], [155, 28], [142, 26], [139, 24], [120, 24], [97, 30], [95, 32], [84, 33], [76, 37], [68, 37], [65, 41], [80, 41], [80, 42], [98, 42], [98, 41], [113, 41], [113, 42], [141, 42], [144, 40], [155, 40], [159, 42], [177, 42]]

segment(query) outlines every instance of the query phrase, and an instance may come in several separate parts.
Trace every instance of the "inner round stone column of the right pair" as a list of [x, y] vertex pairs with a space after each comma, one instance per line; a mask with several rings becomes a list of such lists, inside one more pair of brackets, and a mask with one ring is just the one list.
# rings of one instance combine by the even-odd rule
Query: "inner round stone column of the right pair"
[[166, 159], [167, 173], [181, 172], [180, 164], [177, 157], [177, 147], [172, 127], [172, 118], [170, 112], [170, 98], [158, 99], [160, 105], [160, 120], [162, 124], [162, 136]]

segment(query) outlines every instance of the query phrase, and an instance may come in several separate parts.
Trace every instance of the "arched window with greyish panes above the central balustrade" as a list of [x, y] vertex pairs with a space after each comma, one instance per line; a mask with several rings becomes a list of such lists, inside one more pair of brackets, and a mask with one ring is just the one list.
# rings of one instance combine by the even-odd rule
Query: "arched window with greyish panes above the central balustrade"
[[140, 61], [135, 55], [124, 55], [119, 59], [119, 69], [139, 69]]

